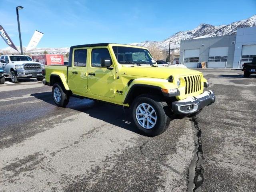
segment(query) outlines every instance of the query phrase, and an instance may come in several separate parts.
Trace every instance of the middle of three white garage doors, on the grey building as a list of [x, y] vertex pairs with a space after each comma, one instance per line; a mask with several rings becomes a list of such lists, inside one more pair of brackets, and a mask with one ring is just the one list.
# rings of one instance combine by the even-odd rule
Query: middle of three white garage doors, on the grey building
[[228, 47], [209, 49], [208, 68], [225, 68], [228, 59]]

